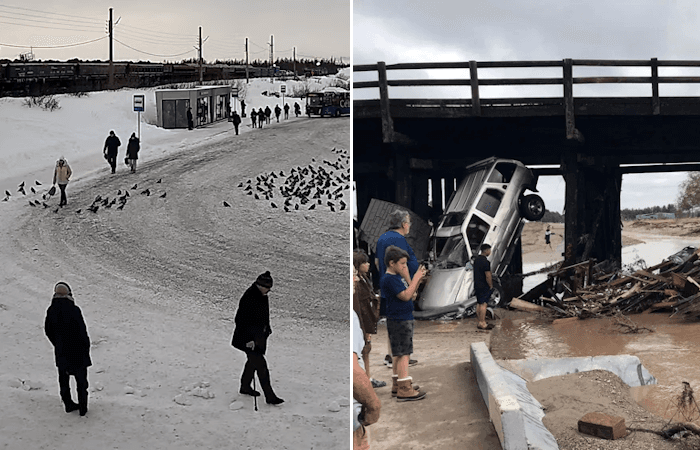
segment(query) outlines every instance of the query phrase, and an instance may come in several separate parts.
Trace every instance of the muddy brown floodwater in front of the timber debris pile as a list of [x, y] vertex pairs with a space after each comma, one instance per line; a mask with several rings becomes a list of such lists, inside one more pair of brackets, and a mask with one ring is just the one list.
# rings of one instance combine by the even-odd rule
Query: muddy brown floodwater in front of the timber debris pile
[[[683, 381], [690, 383], [700, 398], [700, 322], [669, 318], [668, 314], [630, 318], [654, 332], [623, 334], [608, 318], [565, 325], [505, 318], [491, 336], [491, 353], [496, 359], [635, 355], [658, 384], [632, 388], [632, 397], [654, 414], [671, 419], [677, 411], [673, 403], [683, 389]], [[700, 420], [694, 422], [700, 424]]]

